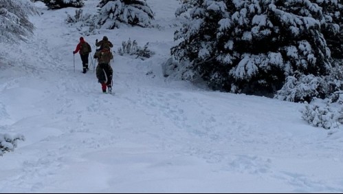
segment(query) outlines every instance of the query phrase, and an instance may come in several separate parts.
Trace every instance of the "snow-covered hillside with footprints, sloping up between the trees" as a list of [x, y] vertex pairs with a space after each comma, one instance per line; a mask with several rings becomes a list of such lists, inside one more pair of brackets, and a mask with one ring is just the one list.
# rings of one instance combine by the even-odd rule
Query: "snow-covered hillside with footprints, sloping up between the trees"
[[[309, 126], [302, 104], [164, 78], [180, 1], [147, 2], [160, 28], [83, 36], [114, 44], [114, 95], [72, 53], [76, 9], [35, 3], [34, 36], [0, 49], [0, 133], [25, 136], [0, 158], [1, 193], [343, 192], [342, 130]], [[155, 54], [120, 56], [129, 39]]]

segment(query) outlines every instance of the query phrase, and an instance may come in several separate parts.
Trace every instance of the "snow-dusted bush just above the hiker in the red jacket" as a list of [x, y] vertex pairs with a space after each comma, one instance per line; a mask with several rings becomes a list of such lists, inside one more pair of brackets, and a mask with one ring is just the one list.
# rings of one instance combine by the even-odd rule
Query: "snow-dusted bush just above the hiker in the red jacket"
[[80, 34], [89, 36], [90, 34], [97, 34], [96, 29], [98, 25], [94, 22], [95, 15], [82, 14], [82, 9], [75, 10], [75, 15], [67, 14], [65, 21], [72, 27], [80, 31]]

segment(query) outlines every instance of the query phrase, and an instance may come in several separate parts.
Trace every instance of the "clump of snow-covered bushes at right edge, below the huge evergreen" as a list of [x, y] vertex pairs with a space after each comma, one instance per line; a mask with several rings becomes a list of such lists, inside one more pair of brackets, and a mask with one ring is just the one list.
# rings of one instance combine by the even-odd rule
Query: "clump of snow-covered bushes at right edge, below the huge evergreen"
[[283, 88], [278, 91], [276, 98], [309, 102], [310, 104], [307, 104], [305, 110], [302, 111], [302, 118], [313, 126], [324, 129], [342, 126], [343, 65], [340, 60], [335, 60], [333, 64], [334, 67], [327, 76], [289, 78], [287, 84], [284, 85], [289, 89]]

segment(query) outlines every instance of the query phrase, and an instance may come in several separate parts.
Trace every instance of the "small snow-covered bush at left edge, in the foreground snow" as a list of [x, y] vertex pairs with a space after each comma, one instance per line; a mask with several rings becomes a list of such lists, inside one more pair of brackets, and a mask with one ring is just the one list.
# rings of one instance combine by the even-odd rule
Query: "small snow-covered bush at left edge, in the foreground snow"
[[0, 133], [0, 156], [2, 156], [6, 151], [14, 151], [18, 140], [25, 140], [25, 138], [20, 134], [11, 136], [10, 134]]

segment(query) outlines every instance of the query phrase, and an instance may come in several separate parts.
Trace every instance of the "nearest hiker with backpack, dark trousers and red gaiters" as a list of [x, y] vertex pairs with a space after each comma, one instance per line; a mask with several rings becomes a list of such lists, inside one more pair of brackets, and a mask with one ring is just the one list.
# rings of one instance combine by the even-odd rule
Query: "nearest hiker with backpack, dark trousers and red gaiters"
[[111, 50], [107, 48], [102, 48], [94, 54], [94, 58], [98, 58], [98, 66], [96, 66], [96, 78], [101, 84], [101, 89], [103, 93], [106, 93], [107, 88], [109, 93], [112, 93], [112, 76], [113, 69], [110, 65], [110, 61], [113, 58]]

